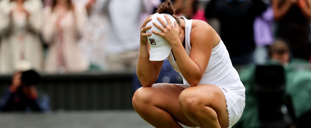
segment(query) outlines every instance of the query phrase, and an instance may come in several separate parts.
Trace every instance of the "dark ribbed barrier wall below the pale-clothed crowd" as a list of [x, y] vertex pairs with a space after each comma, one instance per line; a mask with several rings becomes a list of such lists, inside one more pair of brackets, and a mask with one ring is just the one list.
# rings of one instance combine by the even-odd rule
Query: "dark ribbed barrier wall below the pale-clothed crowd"
[[[106, 110], [132, 108], [132, 72], [41, 74], [38, 90], [49, 94], [52, 110]], [[0, 89], [12, 75], [0, 75]], [[2, 93], [1, 93], [2, 94]]]

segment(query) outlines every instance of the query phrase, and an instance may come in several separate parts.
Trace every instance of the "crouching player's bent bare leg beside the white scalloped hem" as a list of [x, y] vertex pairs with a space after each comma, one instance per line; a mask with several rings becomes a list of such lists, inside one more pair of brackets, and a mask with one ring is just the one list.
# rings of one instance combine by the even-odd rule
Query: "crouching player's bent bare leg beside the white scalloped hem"
[[179, 102], [186, 117], [201, 128], [228, 126], [225, 96], [216, 85], [197, 85], [184, 89]]

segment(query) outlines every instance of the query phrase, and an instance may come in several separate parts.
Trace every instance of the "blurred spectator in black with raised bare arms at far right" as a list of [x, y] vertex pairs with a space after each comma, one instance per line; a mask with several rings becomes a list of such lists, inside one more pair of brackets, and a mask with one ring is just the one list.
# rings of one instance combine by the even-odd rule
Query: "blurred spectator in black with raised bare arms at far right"
[[276, 36], [288, 40], [295, 58], [310, 59], [310, 0], [272, 0]]

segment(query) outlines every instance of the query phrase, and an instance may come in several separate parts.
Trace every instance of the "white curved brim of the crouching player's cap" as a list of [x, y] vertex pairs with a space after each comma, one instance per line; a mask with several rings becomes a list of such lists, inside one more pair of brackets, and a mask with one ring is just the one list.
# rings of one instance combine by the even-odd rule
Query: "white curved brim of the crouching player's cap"
[[150, 61], [163, 61], [169, 56], [171, 49], [172, 47], [169, 43], [167, 43], [167, 45], [160, 47], [160, 48], [150, 47], [149, 60]]

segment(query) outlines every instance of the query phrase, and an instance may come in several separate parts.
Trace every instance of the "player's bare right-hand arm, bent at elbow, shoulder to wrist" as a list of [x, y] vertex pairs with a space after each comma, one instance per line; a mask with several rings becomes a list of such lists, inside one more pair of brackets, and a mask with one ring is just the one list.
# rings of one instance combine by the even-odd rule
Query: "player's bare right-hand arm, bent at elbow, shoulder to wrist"
[[206, 71], [216, 32], [206, 22], [193, 20], [188, 56], [182, 45], [172, 45], [180, 72], [191, 86], [196, 86]]

